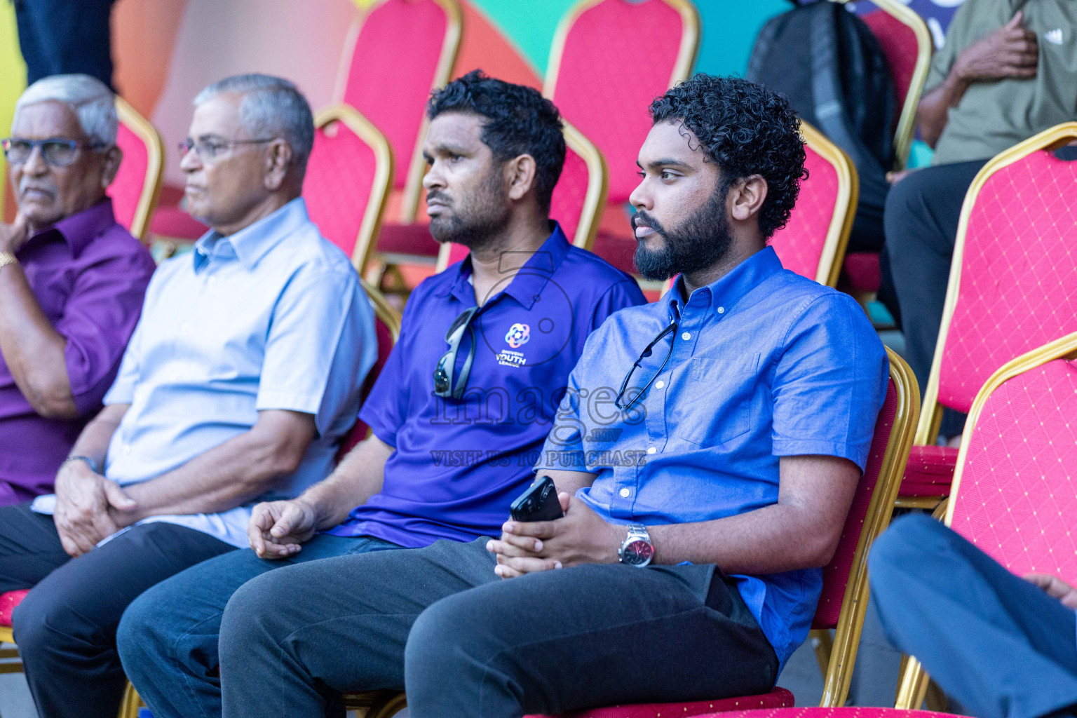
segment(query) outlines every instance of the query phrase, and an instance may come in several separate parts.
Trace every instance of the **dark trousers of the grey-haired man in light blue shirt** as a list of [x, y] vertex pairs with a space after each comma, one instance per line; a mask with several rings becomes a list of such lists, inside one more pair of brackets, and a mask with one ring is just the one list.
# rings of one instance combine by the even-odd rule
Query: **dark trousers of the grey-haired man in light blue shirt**
[[51, 516], [0, 508], [0, 593], [32, 588], [13, 615], [30, 693], [48, 718], [115, 718], [124, 673], [115, 633], [157, 581], [234, 548], [186, 526], [148, 523], [89, 553], [64, 552]]

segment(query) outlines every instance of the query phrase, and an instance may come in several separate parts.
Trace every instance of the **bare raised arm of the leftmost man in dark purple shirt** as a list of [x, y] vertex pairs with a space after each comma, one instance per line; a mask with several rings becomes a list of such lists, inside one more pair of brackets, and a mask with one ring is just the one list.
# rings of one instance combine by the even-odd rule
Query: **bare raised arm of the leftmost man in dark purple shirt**
[[[0, 252], [15, 254], [28, 239], [25, 217], [0, 224]], [[75, 419], [65, 351], [67, 340], [53, 327], [16, 262], [0, 267], [0, 352], [15, 385], [46, 419]]]

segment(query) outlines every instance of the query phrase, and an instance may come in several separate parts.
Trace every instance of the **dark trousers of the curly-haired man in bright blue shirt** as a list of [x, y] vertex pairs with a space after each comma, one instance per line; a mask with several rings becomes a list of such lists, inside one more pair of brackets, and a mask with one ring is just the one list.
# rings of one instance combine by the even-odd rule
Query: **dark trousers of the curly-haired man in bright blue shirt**
[[[401, 689], [416, 718], [563, 713], [765, 692], [778, 659], [705, 566], [499, 579], [488, 539], [313, 561], [239, 589], [221, 624], [224, 716], [321, 718]], [[705, 579], [704, 579], [705, 580]], [[338, 708], [337, 708], [338, 710]]]

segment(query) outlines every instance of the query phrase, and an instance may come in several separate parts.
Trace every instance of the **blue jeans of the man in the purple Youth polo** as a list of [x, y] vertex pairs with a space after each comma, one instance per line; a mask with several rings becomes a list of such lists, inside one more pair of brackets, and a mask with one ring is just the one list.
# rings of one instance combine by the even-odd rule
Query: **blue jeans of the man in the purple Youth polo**
[[319, 534], [290, 559], [266, 561], [244, 549], [192, 566], [143, 593], [124, 613], [116, 642], [127, 678], [154, 718], [220, 716], [216, 644], [233, 593], [282, 566], [398, 548], [370, 536]]

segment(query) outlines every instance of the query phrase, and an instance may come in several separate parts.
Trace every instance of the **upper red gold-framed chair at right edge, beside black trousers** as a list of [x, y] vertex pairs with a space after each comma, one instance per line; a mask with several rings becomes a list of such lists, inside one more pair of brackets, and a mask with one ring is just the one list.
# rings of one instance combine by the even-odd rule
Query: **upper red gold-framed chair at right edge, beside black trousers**
[[967, 413], [999, 366], [1077, 332], [1077, 161], [1052, 152], [1074, 140], [1077, 123], [1065, 123], [1010, 147], [965, 195], [898, 506], [931, 508], [950, 491], [959, 451], [935, 446], [943, 407]]

